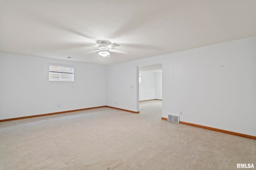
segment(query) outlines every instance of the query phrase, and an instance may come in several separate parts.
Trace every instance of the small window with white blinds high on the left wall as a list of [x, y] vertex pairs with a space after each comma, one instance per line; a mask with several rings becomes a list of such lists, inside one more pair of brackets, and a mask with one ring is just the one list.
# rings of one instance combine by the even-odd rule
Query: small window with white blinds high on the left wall
[[49, 81], [74, 81], [74, 66], [49, 63]]

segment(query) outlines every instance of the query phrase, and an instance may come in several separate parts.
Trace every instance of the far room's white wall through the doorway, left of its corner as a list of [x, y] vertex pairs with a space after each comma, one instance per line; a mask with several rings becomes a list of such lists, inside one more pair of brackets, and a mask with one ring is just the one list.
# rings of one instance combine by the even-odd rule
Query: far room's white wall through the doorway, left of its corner
[[142, 71], [140, 85], [140, 101], [155, 99], [155, 72]]

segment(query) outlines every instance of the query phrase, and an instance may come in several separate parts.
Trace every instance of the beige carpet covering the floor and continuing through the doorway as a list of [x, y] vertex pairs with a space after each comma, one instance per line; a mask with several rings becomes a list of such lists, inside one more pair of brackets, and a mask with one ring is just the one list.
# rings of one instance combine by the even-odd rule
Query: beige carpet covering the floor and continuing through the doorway
[[0, 170], [256, 168], [255, 140], [162, 120], [161, 108], [154, 100], [139, 114], [103, 107], [1, 122]]

